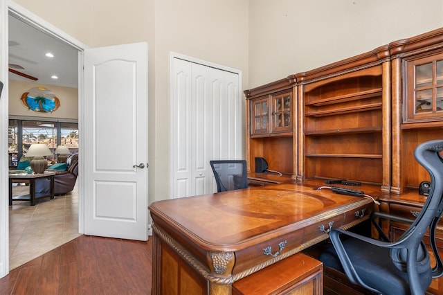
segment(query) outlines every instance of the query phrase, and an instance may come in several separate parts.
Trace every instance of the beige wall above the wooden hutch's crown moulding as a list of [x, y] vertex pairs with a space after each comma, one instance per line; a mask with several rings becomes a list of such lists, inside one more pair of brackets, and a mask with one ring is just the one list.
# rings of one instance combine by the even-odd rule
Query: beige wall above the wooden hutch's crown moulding
[[251, 0], [248, 87], [442, 26], [442, 0]]

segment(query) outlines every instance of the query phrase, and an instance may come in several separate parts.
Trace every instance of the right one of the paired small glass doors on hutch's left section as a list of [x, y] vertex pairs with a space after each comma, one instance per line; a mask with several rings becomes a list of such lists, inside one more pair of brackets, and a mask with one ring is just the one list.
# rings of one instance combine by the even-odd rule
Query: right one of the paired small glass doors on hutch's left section
[[273, 131], [291, 130], [291, 93], [273, 96]]

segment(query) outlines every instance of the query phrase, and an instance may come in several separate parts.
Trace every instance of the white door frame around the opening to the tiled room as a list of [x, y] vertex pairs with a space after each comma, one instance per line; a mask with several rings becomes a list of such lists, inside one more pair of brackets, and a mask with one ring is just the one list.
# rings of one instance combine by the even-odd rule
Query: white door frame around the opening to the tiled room
[[82, 106], [84, 105], [83, 95], [83, 71], [80, 65], [83, 64], [83, 51], [88, 47], [70, 35], [67, 35], [59, 28], [49, 24], [44, 19], [37, 17], [33, 12], [26, 10], [11, 0], [0, 0], [0, 80], [3, 82], [3, 91], [0, 98], [0, 278], [9, 273], [9, 202], [8, 202], [8, 175], [6, 168], [8, 163], [8, 13], [12, 12], [16, 17], [26, 21], [31, 26], [42, 30], [42, 32], [59, 39], [61, 42], [69, 44], [73, 48], [78, 49], [79, 53], [79, 69], [78, 69], [78, 130], [79, 130], [79, 188], [78, 188], [78, 231], [83, 233], [84, 220], [84, 188], [82, 169], [84, 167], [82, 151], [84, 150], [82, 134], [83, 134], [83, 117]]

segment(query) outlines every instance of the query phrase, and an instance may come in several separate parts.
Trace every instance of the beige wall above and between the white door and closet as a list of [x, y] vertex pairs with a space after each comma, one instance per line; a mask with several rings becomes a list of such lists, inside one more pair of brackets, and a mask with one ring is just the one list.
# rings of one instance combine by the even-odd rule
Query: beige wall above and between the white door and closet
[[170, 51], [239, 69], [246, 84], [248, 0], [15, 2], [90, 47], [149, 44], [149, 197], [168, 199]]

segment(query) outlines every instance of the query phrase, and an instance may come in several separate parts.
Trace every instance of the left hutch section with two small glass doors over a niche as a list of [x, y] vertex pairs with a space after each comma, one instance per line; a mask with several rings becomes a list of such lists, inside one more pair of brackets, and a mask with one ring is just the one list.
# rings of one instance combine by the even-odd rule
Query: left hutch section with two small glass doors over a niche
[[297, 171], [296, 80], [289, 75], [244, 91], [246, 96], [246, 161], [255, 172], [255, 157], [264, 158], [269, 169], [291, 175]]

